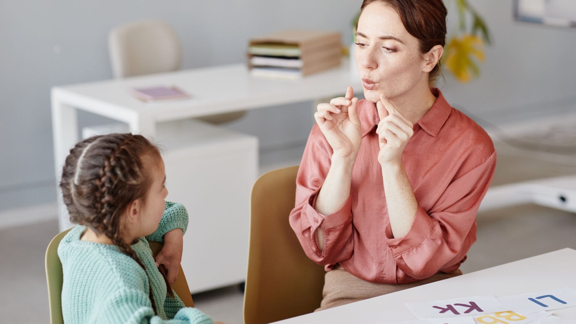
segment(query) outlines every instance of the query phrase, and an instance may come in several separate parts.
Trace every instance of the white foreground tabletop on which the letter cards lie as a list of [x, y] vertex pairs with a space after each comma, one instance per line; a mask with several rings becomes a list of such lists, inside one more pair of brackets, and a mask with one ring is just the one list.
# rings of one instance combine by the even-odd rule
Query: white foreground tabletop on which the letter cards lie
[[[408, 321], [418, 318], [404, 305], [407, 302], [429, 302], [479, 295], [502, 297], [564, 287], [576, 289], [576, 250], [571, 248], [276, 323]], [[576, 319], [575, 308], [557, 310], [555, 314]]]

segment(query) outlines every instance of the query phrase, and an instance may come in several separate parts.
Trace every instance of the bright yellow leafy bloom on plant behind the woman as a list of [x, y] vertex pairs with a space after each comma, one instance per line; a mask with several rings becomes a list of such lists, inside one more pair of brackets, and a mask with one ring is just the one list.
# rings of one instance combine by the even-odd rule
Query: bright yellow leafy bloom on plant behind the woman
[[483, 42], [480, 37], [466, 34], [450, 39], [445, 48], [443, 61], [448, 70], [454, 74], [458, 81], [466, 83], [474, 76], [480, 74], [475, 59], [484, 61]]

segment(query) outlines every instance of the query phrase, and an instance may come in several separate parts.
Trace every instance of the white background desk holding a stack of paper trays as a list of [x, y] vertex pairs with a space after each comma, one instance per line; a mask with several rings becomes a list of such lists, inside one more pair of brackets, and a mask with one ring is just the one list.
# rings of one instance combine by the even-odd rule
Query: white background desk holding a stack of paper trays
[[[155, 85], [177, 85], [192, 98], [145, 103], [128, 92], [133, 87]], [[235, 64], [56, 86], [51, 93], [56, 179], [78, 141], [76, 109], [128, 123], [132, 133], [153, 138], [160, 122], [331, 97], [346, 92], [348, 85], [362, 92], [359, 78], [351, 77], [348, 60], [343, 59], [341, 66], [301, 80], [256, 78], [245, 65]], [[59, 193], [58, 199], [60, 229], [65, 229], [69, 223]]]

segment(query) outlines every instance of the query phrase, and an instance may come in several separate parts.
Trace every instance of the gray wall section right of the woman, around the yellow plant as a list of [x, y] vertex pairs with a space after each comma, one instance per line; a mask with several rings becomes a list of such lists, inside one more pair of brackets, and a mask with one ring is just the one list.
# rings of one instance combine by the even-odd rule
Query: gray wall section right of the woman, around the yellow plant
[[446, 77], [450, 104], [497, 123], [576, 112], [576, 28], [516, 22], [511, 0], [470, 2], [491, 29], [493, 44], [480, 78], [459, 84]]

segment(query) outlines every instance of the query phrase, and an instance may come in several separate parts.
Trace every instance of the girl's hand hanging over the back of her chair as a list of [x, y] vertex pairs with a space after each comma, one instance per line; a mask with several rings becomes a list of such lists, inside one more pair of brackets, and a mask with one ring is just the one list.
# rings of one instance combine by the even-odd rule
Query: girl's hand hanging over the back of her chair
[[172, 231], [164, 234], [164, 246], [160, 253], [156, 255], [156, 266], [164, 265], [168, 270], [168, 275], [166, 280], [171, 285], [178, 278], [178, 272], [180, 270], [180, 262], [182, 261], [182, 249], [183, 249], [183, 237], [184, 234], [182, 229], [175, 228]]

